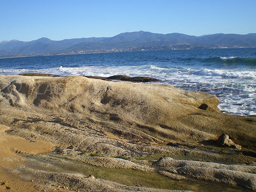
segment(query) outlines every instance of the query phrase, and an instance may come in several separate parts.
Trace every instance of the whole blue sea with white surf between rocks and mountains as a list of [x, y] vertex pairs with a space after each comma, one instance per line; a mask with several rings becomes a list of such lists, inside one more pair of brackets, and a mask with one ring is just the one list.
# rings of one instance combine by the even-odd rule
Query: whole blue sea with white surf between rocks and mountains
[[211, 93], [223, 113], [256, 115], [256, 48], [188, 49], [1, 58], [0, 74], [151, 76]]

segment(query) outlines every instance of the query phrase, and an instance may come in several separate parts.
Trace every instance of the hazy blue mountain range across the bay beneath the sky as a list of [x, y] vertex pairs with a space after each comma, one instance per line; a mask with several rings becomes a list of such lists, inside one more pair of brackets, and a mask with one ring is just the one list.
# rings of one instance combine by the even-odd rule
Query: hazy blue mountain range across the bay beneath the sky
[[256, 33], [192, 36], [139, 31], [125, 32], [109, 38], [75, 38], [61, 41], [40, 38], [28, 42], [12, 40], [0, 42], [0, 56], [222, 47], [256, 47]]

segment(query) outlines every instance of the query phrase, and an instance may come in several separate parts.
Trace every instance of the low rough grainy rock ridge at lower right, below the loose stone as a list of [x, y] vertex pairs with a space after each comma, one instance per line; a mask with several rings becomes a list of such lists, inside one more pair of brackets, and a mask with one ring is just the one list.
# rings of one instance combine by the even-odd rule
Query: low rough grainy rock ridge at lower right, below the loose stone
[[155, 163], [162, 169], [176, 169], [177, 173], [198, 179], [239, 185], [256, 190], [256, 166], [225, 165], [163, 157]]

